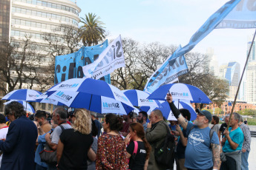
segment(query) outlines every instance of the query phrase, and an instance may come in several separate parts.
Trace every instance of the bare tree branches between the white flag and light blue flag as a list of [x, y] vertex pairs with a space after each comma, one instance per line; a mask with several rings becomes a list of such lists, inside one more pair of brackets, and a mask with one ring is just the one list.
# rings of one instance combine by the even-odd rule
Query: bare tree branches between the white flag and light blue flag
[[122, 39], [122, 48], [125, 67], [111, 73], [111, 84], [119, 89], [144, 89], [151, 74], [174, 52], [173, 46], [165, 47], [157, 42], [140, 45], [131, 38]]

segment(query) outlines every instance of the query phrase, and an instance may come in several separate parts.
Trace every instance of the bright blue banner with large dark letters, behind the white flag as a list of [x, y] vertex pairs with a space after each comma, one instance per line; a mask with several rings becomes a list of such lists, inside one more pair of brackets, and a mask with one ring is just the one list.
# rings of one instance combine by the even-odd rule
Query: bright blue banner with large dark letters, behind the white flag
[[[70, 78], [83, 78], [82, 67], [93, 63], [106, 47], [108, 47], [108, 40], [96, 46], [82, 47], [68, 55], [56, 56], [54, 84]], [[110, 75], [105, 75], [101, 80], [111, 83]]]

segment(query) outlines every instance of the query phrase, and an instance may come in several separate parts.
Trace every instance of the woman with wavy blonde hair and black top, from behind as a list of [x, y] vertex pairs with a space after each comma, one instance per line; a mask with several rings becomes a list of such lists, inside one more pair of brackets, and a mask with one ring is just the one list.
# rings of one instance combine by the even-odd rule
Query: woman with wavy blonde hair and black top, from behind
[[[91, 115], [87, 109], [76, 109], [73, 129], [65, 129], [59, 137], [57, 162], [59, 169], [87, 169], [93, 143]], [[93, 159], [93, 158], [91, 158]]]

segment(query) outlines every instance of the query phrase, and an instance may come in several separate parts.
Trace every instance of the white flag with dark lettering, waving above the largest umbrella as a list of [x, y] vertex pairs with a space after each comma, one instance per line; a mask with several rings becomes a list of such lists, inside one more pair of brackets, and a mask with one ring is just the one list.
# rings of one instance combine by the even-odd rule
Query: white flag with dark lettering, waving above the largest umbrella
[[105, 48], [96, 61], [82, 67], [82, 71], [86, 78], [99, 79], [120, 67], [125, 67], [121, 35]]

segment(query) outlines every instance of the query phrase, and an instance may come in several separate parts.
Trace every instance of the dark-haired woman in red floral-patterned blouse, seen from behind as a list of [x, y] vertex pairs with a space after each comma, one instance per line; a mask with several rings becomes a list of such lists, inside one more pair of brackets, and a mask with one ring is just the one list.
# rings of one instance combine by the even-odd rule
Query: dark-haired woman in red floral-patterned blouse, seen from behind
[[128, 169], [125, 141], [119, 135], [122, 118], [110, 113], [102, 126], [105, 132], [98, 140], [96, 169]]

